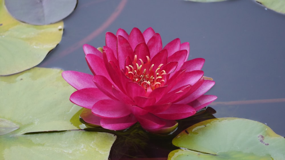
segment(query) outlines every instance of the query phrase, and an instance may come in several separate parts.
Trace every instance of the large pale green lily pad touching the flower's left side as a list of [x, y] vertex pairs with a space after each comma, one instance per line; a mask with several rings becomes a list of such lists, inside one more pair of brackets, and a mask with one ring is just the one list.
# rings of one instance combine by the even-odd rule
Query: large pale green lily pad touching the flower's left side
[[32, 68], [0, 77], [0, 118], [20, 126], [11, 134], [78, 129], [70, 119], [81, 107], [69, 96], [75, 91], [62, 70]]

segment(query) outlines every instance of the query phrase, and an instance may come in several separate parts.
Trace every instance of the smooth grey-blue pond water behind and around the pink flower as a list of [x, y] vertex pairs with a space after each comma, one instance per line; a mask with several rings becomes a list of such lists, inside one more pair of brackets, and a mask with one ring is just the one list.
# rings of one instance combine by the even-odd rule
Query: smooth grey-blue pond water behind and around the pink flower
[[189, 59], [205, 58], [205, 76], [216, 82], [207, 92], [218, 96], [215, 117], [260, 121], [285, 136], [285, 15], [255, 1], [79, 1], [62, 41], [38, 66], [91, 73], [82, 45], [102, 47], [107, 31], [134, 27], [152, 27], [163, 45], [180, 38], [190, 43]]

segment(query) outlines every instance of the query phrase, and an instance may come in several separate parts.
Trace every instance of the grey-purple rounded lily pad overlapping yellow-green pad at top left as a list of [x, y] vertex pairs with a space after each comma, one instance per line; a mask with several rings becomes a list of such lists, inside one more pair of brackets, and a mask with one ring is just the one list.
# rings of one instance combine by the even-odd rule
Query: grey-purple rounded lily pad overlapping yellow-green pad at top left
[[45, 25], [67, 17], [76, 3], [77, 0], [9, 0], [5, 5], [16, 19], [29, 24]]

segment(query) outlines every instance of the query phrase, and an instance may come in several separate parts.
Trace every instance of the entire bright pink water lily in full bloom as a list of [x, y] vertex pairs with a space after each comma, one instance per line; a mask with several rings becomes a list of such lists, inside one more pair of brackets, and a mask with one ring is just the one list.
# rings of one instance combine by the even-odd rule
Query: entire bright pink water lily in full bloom
[[149, 132], [165, 131], [177, 119], [190, 117], [217, 97], [204, 95], [215, 84], [203, 78], [203, 58], [188, 60], [189, 43], [174, 39], [162, 48], [152, 28], [130, 34], [106, 33], [103, 53], [84, 45], [93, 75], [64, 71], [62, 77], [77, 91], [74, 104], [87, 108], [87, 123], [122, 130], [139, 122]]

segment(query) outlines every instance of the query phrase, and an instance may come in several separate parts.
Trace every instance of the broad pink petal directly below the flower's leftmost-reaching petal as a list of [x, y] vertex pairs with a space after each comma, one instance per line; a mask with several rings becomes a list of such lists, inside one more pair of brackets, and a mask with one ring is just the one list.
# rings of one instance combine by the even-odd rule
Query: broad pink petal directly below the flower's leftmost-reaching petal
[[97, 88], [84, 88], [73, 92], [70, 101], [78, 106], [91, 109], [101, 99], [110, 99]]

